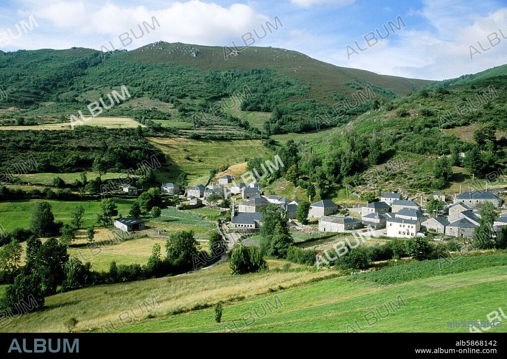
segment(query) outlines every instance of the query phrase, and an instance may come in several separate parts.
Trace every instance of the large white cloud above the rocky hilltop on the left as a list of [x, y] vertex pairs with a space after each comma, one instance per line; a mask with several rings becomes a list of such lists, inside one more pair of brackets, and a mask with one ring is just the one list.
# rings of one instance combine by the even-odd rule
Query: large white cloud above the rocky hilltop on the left
[[[41, 32], [51, 34], [45, 39], [42, 35], [22, 37], [12, 41], [12, 48], [41, 48], [41, 41], [51, 48], [87, 46], [100, 49], [109, 41], [116, 48], [121, 47], [119, 35], [129, 32], [133, 43], [128, 49], [134, 49], [155, 41], [183, 42], [199, 45], [230, 45], [238, 41], [241, 35], [252, 29], [262, 31], [261, 24], [273, 18], [255, 12], [243, 4], [232, 4], [222, 7], [213, 3], [198, 0], [174, 2], [162, 10], [151, 10], [145, 6], [128, 7], [111, 3], [100, 5], [84, 1], [53, 1], [36, 5], [24, 15], [33, 14], [40, 23]], [[153, 27], [155, 16], [160, 27], [143, 31], [140, 39], [135, 39], [131, 30], [139, 37], [143, 22]], [[45, 27], [47, 26], [47, 27]], [[50, 27], [50, 28], [48, 28]], [[55, 33], [57, 36], [55, 36]], [[262, 32], [260, 32], [262, 33]], [[125, 38], [125, 37], [123, 37]], [[110, 48], [109, 45], [106, 45]]]

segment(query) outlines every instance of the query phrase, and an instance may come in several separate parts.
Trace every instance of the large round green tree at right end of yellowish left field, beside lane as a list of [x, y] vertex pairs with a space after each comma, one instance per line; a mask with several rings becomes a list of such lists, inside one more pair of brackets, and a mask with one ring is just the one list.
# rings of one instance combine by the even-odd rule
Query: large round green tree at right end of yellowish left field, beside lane
[[194, 231], [172, 233], [165, 244], [166, 259], [174, 267], [192, 268], [194, 256], [199, 253], [199, 242], [194, 238]]

